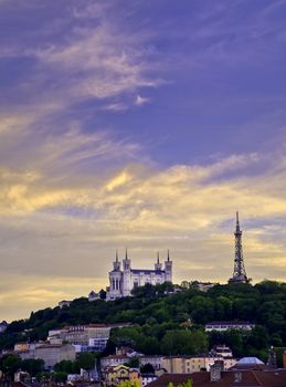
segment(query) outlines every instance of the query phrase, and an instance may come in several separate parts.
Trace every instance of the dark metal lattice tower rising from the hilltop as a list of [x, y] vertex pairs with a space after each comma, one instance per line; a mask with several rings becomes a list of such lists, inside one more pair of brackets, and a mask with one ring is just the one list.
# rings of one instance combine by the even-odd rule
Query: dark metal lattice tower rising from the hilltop
[[234, 270], [233, 276], [229, 280], [230, 283], [248, 283], [250, 279], [247, 279], [246, 271], [243, 262], [243, 253], [242, 253], [242, 231], [240, 227], [239, 212], [236, 212], [236, 228], [234, 232], [235, 237], [235, 257], [234, 257]]

